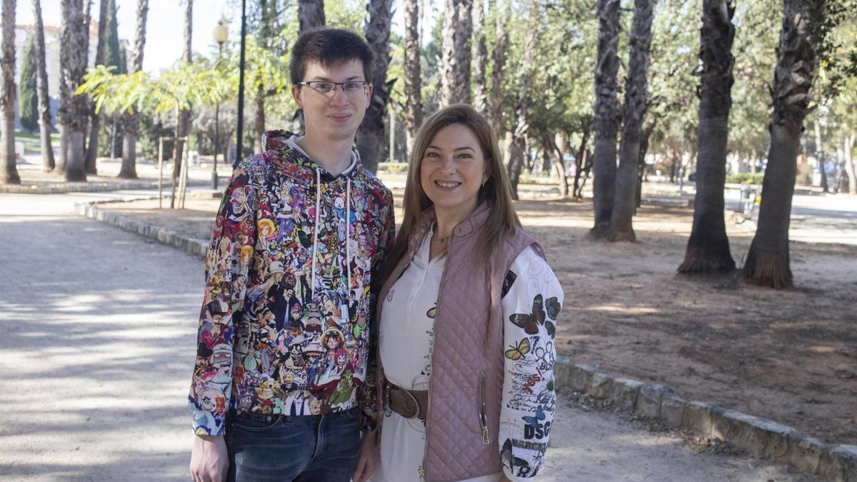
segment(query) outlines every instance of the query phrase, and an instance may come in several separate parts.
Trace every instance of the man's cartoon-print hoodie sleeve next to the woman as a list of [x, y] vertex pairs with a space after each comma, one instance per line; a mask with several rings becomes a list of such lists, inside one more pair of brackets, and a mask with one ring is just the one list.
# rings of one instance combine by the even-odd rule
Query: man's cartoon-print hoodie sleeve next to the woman
[[369, 294], [371, 303], [369, 312], [369, 352], [366, 359], [366, 384], [361, 394], [361, 409], [363, 412], [363, 431], [375, 431], [378, 424], [378, 392], [375, 386], [378, 369], [378, 327], [379, 323], [375, 316], [378, 292], [381, 290], [381, 271], [387, 254], [393, 249], [396, 240], [396, 221], [393, 209], [393, 194], [390, 191], [384, 193], [384, 208], [381, 209], [381, 236], [378, 237], [378, 250], [375, 259], [372, 260], [372, 286]]

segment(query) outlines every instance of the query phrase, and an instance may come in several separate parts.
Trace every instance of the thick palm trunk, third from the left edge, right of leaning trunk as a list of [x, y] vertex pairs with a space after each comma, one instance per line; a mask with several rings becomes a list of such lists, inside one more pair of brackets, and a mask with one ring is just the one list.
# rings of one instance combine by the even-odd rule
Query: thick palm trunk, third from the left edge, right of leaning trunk
[[[87, 0], [88, 1], [88, 0]], [[84, 143], [87, 130], [87, 97], [75, 94], [87, 69], [89, 25], [86, 23], [83, 0], [63, 0], [62, 33], [60, 34], [60, 105], [57, 120], [65, 145], [57, 169], [70, 182], [86, 181]], [[63, 162], [64, 161], [64, 162]]]

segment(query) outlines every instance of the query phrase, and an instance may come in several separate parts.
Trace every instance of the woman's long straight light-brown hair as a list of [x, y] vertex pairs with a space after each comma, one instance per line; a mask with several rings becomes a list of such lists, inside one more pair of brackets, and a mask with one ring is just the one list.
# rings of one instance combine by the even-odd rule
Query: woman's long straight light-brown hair
[[488, 201], [491, 208], [491, 215], [482, 231], [482, 239], [477, 244], [480, 246], [482, 259], [488, 262], [502, 235], [515, 232], [515, 229], [521, 226], [518, 214], [515, 214], [515, 209], [512, 207], [512, 188], [509, 184], [509, 178], [506, 176], [506, 169], [503, 167], [497, 138], [494, 136], [494, 131], [491, 130], [488, 121], [470, 105], [453, 104], [440, 109], [428, 117], [428, 120], [417, 131], [417, 138], [414, 140], [414, 148], [411, 150], [411, 159], [409, 160], [408, 179], [405, 184], [405, 199], [403, 200], [405, 215], [402, 219], [402, 227], [396, 235], [393, 250], [390, 251], [390, 255], [384, 261], [382, 282], [387, 280], [402, 257], [407, 254], [408, 240], [411, 238], [414, 226], [417, 226], [420, 214], [432, 205], [431, 200], [428, 199], [423, 190], [423, 184], [420, 182], [420, 167], [423, 164], [423, 155], [428, 144], [439, 130], [452, 124], [461, 124], [473, 131], [482, 147], [482, 156], [488, 166], [488, 180], [482, 185], [478, 194], [479, 203]]

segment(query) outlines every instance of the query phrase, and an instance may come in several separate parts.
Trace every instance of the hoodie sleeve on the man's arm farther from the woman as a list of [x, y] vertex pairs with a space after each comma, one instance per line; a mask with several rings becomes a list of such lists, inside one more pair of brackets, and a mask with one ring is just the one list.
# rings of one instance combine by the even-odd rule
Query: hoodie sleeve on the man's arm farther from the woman
[[232, 173], [208, 246], [196, 364], [188, 397], [197, 435], [223, 435], [225, 412], [230, 407], [235, 327], [244, 308], [256, 240], [258, 186], [249, 175], [252, 159]]

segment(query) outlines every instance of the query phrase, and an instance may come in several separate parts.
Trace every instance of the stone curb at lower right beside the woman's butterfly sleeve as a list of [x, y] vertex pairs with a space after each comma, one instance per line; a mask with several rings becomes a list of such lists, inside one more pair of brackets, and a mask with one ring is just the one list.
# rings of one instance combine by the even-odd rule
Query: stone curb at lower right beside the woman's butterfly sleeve
[[612, 401], [666, 425], [716, 437], [754, 457], [786, 462], [836, 482], [857, 482], [857, 445], [825, 443], [788, 425], [705, 401], [686, 401], [667, 386], [614, 377], [566, 357], [557, 357], [554, 377], [558, 387]]

